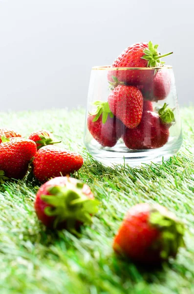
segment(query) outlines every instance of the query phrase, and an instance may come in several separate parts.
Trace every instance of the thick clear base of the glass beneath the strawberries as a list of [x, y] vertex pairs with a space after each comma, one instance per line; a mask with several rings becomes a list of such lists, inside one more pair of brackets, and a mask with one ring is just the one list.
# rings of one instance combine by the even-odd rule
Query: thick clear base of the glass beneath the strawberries
[[140, 167], [144, 164], [161, 163], [173, 156], [182, 145], [182, 136], [176, 142], [170, 137], [169, 142], [157, 149], [149, 150], [130, 150], [125, 147], [120, 140], [114, 147], [102, 147], [95, 140], [92, 140], [86, 148], [95, 160], [104, 166], [113, 167], [114, 165], [128, 164], [131, 167]]

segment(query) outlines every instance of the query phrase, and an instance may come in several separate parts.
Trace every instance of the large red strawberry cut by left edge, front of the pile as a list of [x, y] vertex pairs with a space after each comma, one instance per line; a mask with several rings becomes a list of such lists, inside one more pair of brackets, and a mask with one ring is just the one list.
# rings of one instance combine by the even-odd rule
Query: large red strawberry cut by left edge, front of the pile
[[36, 144], [22, 138], [5, 141], [0, 144], [0, 170], [4, 171], [8, 178], [22, 179], [36, 153]]

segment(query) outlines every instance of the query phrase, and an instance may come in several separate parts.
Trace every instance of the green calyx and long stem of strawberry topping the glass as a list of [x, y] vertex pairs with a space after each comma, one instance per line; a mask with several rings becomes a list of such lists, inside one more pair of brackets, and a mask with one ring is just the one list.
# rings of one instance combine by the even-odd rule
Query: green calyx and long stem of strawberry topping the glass
[[150, 41], [148, 43], [148, 49], [144, 49], [145, 55], [143, 55], [141, 58], [148, 60], [147, 67], [163, 66], [165, 62], [161, 62], [160, 59], [173, 53], [173, 52], [169, 52], [169, 53], [161, 55], [158, 52], [157, 48], [158, 48], [158, 44], [153, 45], [152, 42]]

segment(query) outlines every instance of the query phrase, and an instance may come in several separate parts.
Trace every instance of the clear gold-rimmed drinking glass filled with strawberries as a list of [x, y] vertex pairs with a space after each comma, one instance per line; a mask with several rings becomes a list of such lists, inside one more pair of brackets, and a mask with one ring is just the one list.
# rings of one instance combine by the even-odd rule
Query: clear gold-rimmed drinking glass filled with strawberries
[[84, 142], [107, 166], [160, 163], [173, 156], [182, 131], [172, 67], [93, 67]]

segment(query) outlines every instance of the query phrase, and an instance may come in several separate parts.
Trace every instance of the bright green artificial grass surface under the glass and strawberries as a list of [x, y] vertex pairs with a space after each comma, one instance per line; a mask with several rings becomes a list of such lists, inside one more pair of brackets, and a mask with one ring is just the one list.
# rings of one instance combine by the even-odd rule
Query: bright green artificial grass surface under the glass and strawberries
[[[84, 111], [1, 113], [0, 126], [22, 135], [46, 128], [85, 158], [76, 176], [101, 202], [91, 227], [77, 239], [52, 232], [37, 220], [38, 186], [22, 181], [0, 186], [0, 294], [192, 294], [194, 293], [194, 108], [181, 110], [184, 144], [162, 165], [105, 168], [83, 148]], [[127, 211], [158, 202], [186, 223], [186, 248], [161, 268], [146, 269], [117, 258], [112, 239]]]

